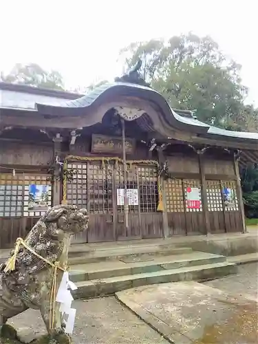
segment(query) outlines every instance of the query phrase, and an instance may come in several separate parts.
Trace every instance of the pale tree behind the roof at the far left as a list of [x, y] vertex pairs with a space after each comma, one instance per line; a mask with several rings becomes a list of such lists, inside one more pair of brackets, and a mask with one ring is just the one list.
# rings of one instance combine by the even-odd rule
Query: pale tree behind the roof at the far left
[[56, 70], [46, 71], [36, 63], [14, 65], [9, 74], [1, 73], [1, 80], [6, 83], [30, 85], [49, 89], [64, 89], [63, 77]]

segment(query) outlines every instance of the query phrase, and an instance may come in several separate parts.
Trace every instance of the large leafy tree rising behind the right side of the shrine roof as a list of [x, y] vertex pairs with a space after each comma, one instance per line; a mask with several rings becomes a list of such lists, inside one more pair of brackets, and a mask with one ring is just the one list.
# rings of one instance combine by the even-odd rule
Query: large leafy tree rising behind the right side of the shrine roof
[[247, 89], [241, 84], [241, 66], [228, 61], [208, 36], [190, 33], [167, 42], [132, 43], [120, 56], [128, 69], [141, 58], [142, 76], [171, 107], [196, 110], [197, 118], [208, 124], [248, 130], [250, 125], [241, 118], [252, 122], [252, 116], [257, 117], [257, 110], [244, 106]]

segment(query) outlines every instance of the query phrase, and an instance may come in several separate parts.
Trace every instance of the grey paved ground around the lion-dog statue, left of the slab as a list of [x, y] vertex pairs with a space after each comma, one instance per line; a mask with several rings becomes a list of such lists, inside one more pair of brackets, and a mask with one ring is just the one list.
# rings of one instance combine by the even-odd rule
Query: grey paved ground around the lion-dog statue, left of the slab
[[[130, 310], [120, 305], [115, 297], [74, 301], [77, 309], [76, 344], [167, 344], [168, 342]], [[16, 316], [12, 325], [44, 330], [39, 312], [28, 310]]]

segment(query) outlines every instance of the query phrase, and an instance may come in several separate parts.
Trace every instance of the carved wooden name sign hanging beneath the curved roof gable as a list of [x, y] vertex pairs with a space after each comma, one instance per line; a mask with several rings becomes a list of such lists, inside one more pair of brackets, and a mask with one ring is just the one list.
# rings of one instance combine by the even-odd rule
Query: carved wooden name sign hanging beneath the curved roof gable
[[[132, 154], [133, 138], [125, 138], [125, 151]], [[122, 153], [122, 138], [92, 134], [92, 153]]]

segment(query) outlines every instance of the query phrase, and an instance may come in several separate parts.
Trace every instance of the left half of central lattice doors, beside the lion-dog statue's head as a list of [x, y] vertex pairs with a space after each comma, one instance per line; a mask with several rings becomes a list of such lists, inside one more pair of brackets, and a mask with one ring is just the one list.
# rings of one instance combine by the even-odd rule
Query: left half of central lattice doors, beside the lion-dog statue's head
[[77, 172], [67, 182], [67, 202], [89, 212], [89, 229], [74, 242], [114, 241], [114, 166], [94, 161], [70, 163], [67, 168]]

